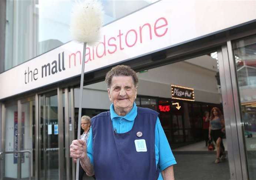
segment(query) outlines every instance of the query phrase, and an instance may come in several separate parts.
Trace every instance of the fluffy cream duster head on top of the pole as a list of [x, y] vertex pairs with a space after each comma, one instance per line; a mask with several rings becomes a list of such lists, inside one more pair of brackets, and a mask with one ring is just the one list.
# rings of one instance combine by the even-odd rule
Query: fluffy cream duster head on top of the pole
[[93, 44], [100, 39], [103, 7], [97, 0], [76, 3], [71, 16], [70, 31], [73, 40]]

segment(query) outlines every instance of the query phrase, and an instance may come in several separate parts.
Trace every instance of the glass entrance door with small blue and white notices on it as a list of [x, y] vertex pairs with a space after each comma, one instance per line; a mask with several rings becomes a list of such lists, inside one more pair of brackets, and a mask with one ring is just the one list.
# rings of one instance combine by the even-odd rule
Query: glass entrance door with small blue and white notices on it
[[59, 123], [57, 91], [39, 97], [39, 177], [59, 179]]

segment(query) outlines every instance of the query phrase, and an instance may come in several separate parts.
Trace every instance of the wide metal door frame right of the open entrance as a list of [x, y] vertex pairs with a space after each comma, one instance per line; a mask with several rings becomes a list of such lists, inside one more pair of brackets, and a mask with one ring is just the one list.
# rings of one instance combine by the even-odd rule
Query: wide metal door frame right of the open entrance
[[230, 179], [248, 180], [245, 144], [243, 141], [235, 64], [231, 42], [217, 51], [225, 117]]

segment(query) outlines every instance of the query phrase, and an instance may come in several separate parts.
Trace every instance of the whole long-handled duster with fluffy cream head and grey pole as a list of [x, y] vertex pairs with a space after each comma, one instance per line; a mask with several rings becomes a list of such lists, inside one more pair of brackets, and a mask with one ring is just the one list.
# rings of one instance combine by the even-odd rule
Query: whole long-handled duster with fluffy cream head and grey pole
[[[77, 3], [73, 7], [71, 16], [70, 31], [74, 40], [83, 43], [83, 61], [79, 91], [79, 111], [77, 139], [80, 137], [80, 124], [82, 115], [83, 82], [84, 82], [84, 62], [86, 54], [86, 44], [93, 45], [100, 39], [100, 28], [103, 24], [102, 5], [97, 0], [85, 0]], [[76, 180], [79, 179], [79, 159], [76, 163]]]

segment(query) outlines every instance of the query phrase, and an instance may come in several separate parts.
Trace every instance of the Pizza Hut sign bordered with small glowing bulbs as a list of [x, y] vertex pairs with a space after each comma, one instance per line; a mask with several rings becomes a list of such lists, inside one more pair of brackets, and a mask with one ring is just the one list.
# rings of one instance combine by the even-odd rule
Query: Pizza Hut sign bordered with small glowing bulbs
[[194, 89], [190, 87], [183, 87], [177, 85], [171, 85], [172, 99], [195, 101]]

